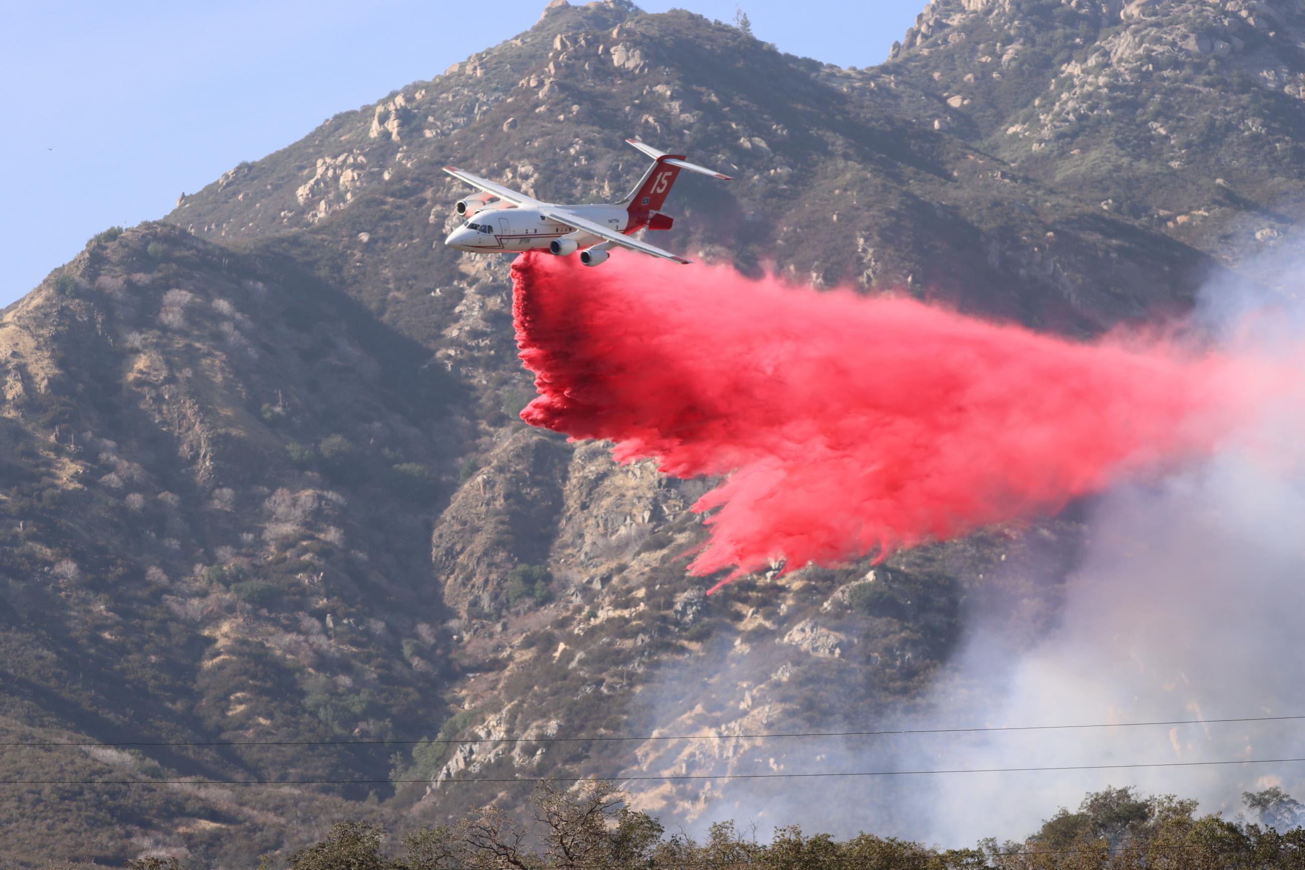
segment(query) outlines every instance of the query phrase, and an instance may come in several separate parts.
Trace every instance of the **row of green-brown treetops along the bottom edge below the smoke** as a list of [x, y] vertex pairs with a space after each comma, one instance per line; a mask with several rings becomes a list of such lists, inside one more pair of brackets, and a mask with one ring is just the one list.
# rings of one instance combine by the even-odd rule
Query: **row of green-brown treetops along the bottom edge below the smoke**
[[[466, 713], [467, 711], [463, 711]], [[459, 713], [458, 716], [463, 716]], [[457, 719], [457, 717], [455, 717]], [[450, 720], [452, 721], [452, 720]], [[441, 728], [441, 738], [461, 730]], [[442, 751], [442, 750], [441, 750]], [[1246, 793], [1250, 809], [1296, 814], [1282, 789]], [[666, 836], [652, 817], [632, 810], [607, 781], [574, 788], [536, 787], [532, 811], [495, 806], [453, 826], [410, 833], [402, 858], [382, 852], [385, 830], [364, 822], [331, 827], [317, 845], [300, 849], [290, 870], [1242, 870], [1305, 867], [1305, 830], [1194, 818], [1197, 802], [1142, 797], [1128, 788], [1088, 794], [1077, 813], [1061, 810], [1024, 841], [980, 841], [974, 849], [940, 850], [861, 833], [835, 840], [796, 824], [775, 828], [770, 843], [733, 822], [711, 826], [702, 841]], [[1112, 840], [1117, 840], [1112, 843]], [[180, 870], [145, 866], [140, 870]], [[260, 870], [270, 870], [268, 861]]]

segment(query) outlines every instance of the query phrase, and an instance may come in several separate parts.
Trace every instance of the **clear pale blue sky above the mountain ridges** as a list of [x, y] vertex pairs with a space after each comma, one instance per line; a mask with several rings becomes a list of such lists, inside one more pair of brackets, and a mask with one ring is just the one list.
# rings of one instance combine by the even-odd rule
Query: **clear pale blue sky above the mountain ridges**
[[[573, 4], [578, 0], [573, 0]], [[758, 38], [882, 61], [925, 0], [740, 0]], [[112, 224], [529, 29], [545, 0], [13, 4], [0, 33], [0, 305]], [[735, 0], [639, 0], [733, 20]], [[487, 14], [487, 9], [489, 13]], [[818, 14], [813, 14], [818, 9]]]

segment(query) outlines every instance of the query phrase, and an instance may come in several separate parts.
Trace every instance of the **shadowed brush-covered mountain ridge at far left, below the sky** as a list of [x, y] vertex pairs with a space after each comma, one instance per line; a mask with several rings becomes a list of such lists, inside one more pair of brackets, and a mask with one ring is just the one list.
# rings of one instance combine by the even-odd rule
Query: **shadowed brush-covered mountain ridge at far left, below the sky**
[[[466, 425], [420, 348], [292, 267], [147, 226], [12, 307], [0, 359], [7, 740], [384, 737], [444, 713], [422, 539]], [[46, 747], [9, 750], [5, 777], [341, 779], [385, 757]], [[40, 819], [120, 861], [296, 802], [254, 792], [7, 788], [5, 857], [48, 854]]]

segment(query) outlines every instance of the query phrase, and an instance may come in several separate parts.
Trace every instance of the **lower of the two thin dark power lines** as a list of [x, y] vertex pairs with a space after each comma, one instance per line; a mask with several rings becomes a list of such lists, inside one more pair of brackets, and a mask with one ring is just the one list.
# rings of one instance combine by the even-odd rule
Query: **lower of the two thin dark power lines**
[[[1291, 764], [1305, 758], [1245, 758], [1219, 762], [1143, 762], [1133, 764], [1056, 764], [1045, 767], [958, 767], [920, 771], [823, 771], [814, 773], [664, 773], [636, 776], [500, 776], [445, 780], [446, 783], [583, 783], [609, 780], [613, 783], [679, 781], [679, 780], [763, 780], [763, 779], [821, 779], [860, 776], [941, 776], [950, 773], [1031, 773], [1049, 771], [1124, 771], [1156, 767], [1215, 767], [1227, 764]], [[427, 783], [418, 780], [0, 780], [0, 785], [407, 785]]]

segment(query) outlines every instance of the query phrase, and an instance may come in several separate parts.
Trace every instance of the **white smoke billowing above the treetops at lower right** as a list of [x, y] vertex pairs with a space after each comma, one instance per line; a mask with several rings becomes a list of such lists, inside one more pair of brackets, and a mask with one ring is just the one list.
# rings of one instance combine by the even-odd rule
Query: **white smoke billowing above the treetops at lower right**
[[[1220, 280], [1208, 288], [1194, 323], [1232, 353], [1298, 351], [1305, 343], [1305, 307], [1295, 297], [1298, 266], [1297, 260], [1275, 258], [1258, 263], [1254, 280], [1246, 279], [1248, 270]], [[1044, 595], [1064, 599], [1058, 622], [1040, 642], [1031, 648], [1013, 643], [1027, 635], [1024, 610], [980, 593], [971, 601], [964, 643], [928, 700], [910, 715], [886, 712], [880, 723], [859, 723], [1205, 724], [880, 736], [833, 747], [829, 741], [788, 741], [746, 751], [769, 757], [776, 771], [1305, 758], [1305, 723], [1208, 723], [1305, 715], [1305, 372], [1300, 381], [1280, 404], [1248, 408], [1236, 442], [1208, 460], [1094, 500], [1078, 565], [1066, 578], [1052, 571], [1045, 578]], [[775, 655], [735, 652], [716, 661], [716, 681], [703, 677], [701, 665], [668, 677], [663, 698], [672, 713], [722, 689], [728, 694], [732, 686], [763, 681]], [[829, 729], [847, 725], [846, 717], [833, 716]], [[685, 772], [719, 771], [729, 762], [719, 750], [694, 751], [680, 759]], [[771, 824], [800, 823], [837, 836], [869, 831], [964, 847], [985, 836], [1022, 839], [1057, 807], [1074, 809], [1084, 793], [1107, 785], [1194, 797], [1201, 811], [1232, 817], [1246, 790], [1280, 785], [1305, 797], [1305, 763], [741, 780], [718, 784], [705, 809], [681, 803], [680, 818], [689, 819], [690, 832], [733, 818], [757, 824], [762, 836]]]

